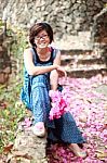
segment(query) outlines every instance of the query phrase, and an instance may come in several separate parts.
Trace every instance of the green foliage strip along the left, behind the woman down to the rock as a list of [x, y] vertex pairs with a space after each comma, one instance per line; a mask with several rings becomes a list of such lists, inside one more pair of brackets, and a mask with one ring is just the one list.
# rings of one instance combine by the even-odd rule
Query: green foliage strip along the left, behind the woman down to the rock
[[19, 70], [17, 77], [9, 86], [0, 85], [0, 153], [10, 141], [14, 141], [17, 124], [26, 114], [25, 106], [18, 102], [23, 80], [23, 52], [27, 46], [26, 33], [10, 29], [8, 35], [13, 35], [11, 54], [17, 61]]

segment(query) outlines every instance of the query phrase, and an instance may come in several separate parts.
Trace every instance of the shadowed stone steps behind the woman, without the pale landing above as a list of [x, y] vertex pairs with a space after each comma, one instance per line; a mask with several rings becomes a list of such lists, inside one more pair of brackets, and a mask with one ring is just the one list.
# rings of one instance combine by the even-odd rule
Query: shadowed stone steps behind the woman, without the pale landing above
[[[68, 53], [68, 54], [67, 54]], [[62, 52], [62, 65], [70, 77], [92, 77], [106, 74], [106, 59], [94, 51], [67, 51]]]

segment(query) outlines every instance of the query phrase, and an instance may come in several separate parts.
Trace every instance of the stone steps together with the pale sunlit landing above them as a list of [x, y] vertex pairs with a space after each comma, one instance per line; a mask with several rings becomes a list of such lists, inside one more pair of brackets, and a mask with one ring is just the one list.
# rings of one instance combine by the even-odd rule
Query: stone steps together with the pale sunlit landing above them
[[99, 45], [93, 43], [91, 32], [81, 32], [65, 39], [63, 43], [56, 43], [62, 52], [62, 65], [68, 76], [90, 78], [107, 73], [106, 58], [102, 54]]

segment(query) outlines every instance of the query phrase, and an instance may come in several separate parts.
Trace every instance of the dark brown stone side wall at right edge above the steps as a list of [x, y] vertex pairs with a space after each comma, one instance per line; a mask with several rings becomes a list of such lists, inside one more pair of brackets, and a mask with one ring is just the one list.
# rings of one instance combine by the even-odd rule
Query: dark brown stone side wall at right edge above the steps
[[107, 65], [107, 8], [103, 9], [94, 16], [92, 37], [94, 48], [97, 49], [101, 55], [105, 59]]

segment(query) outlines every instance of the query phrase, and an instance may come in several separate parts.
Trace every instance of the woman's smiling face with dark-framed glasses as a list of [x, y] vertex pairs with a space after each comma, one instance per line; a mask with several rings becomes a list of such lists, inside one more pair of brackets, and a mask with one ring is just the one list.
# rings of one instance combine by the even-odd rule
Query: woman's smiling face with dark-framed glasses
[[41, 30], [36, 37], [35, 37], [35, 43], [37, 48], [46, 48], [50, 45], [50, 37], [45, 30]]

